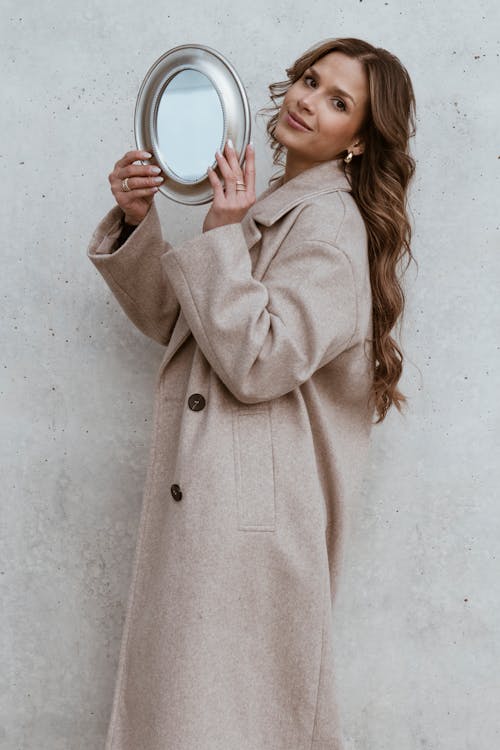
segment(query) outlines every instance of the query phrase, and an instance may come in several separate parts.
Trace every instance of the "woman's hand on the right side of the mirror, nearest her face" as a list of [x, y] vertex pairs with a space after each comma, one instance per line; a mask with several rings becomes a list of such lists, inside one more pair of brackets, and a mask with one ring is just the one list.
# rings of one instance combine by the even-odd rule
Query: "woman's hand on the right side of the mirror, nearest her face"
[[[224, 178], [224, 186], [213, 169], [207, 171], [214, 191], [210, 211], [205, 216], [203, 231], [225, 224], [237, 224], [255, 203], [255, 152], [250, 144], [246, 148], [245, 167], [242, 172], [234, 148], [226, 141], [224, 153], [216, 153], [218, 167]], [[246, 190], [236, 190], [236, 181], [244, 182]]]

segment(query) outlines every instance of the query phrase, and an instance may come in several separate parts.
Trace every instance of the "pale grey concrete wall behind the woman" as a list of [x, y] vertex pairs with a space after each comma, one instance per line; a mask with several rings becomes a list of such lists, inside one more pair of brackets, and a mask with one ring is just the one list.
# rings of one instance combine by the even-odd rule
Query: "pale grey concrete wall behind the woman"
[[[109, 720], [163, 347], [85, 252], [113, 205], [107, 175], [135, 147], [141, 81], [177, 44], [226, 55], [263, 190], [274, 168], [255, 113], [329, 36], [398, 55], [418, 106], [409, 409], [374, 427], [335, 609], [345, 748], [498, 746], [498, 7], [4, 0], [2, 750], [97, 750]], [[171, 242], [201, 231], [208, 205], [155, 200]]]

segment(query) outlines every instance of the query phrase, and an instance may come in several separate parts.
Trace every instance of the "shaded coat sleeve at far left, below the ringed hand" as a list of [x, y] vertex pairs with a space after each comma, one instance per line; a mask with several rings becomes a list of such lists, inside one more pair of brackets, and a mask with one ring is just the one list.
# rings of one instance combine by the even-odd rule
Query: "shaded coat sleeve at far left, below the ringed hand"
[[87, 248], [87, 257], [132, 323], [149, 338], [166, 346], [180, 312], [179, 301], [161, 264], [171, 246], [162, 236], [154, 203], [132, 234], [117, 247], [123, 212], [114, 206], [100, 221]]

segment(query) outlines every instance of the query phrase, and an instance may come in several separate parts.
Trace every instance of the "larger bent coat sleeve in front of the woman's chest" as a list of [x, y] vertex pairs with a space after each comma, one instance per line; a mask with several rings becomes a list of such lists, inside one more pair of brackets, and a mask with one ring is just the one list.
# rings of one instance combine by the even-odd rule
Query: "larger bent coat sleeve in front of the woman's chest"
[[356, 332], [349, 256], [310, 238], [300, 220], [262, 280], [252, 275], [240, 223], [169, 248], [162, 263], [198, 345], [240, 401], [288, 393], [347, 348]]

